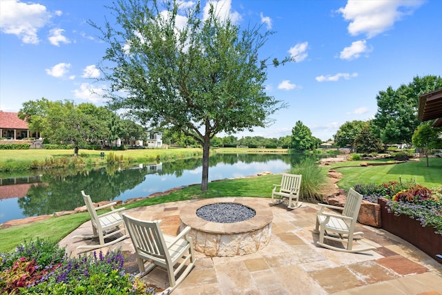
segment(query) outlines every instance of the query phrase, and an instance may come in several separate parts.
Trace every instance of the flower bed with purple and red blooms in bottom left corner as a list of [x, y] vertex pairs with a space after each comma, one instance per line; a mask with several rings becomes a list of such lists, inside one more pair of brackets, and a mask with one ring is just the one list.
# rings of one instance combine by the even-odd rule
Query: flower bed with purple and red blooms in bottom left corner
[[68, 258], [56, 243], [24, 242], [0, 253], [0, 294], [155, 294], [123, 264], [120, 251]]

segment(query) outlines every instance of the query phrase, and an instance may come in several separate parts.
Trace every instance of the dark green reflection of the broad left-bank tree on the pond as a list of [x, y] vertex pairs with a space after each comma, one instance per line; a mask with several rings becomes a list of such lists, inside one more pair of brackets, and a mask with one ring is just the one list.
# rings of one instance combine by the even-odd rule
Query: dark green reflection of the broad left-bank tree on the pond
[[114, 200], [143, 182], [147, 172], [147, 169], [125, 169], [108, 174], [106, 168], [102, 168], [73, 175], [48, 173], [42, 183], [30, 187], [26, 197], [19, 198], [19, 207], [24, 216], [72, 210], [84, 205], [81, 190], [90, 195], [93, 202]]

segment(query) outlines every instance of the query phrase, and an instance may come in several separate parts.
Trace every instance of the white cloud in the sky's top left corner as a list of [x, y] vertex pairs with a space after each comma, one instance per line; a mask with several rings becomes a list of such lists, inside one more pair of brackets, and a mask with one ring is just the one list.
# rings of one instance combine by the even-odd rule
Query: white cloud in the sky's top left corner
[[25, 44], [38, 44], [37, 31], [46, 26], [49, 20], [50, 13], [41, 4], [1, 0], [1, 32], [16, 35]]

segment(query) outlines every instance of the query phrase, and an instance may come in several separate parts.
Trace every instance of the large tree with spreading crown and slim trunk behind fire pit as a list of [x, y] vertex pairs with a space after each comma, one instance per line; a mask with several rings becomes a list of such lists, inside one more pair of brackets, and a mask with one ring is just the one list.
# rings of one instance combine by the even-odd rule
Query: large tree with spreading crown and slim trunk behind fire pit
[[283, 104], [265, 93], [268, 59], [258, 58], [271, 32], [242, 30], [220, 14], [222, 3], [210, 2], [204, 14], [199, 2], [186, 11], [180, 3], [117, 0], [110, 7], [115, 19], [90, 24], [109, 46], [100, 69], [110, 105], [201, 144], [204, 191], [210, 140], [222, 131], [267, 126]]

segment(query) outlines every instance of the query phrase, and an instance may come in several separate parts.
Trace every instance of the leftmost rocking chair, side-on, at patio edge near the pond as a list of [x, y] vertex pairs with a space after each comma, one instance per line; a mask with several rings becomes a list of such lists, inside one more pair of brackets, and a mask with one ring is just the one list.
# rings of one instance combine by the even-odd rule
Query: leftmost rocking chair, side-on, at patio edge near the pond
[[[113, 206], [117, 204], [117, 202], [112, 202], [110, 204], [106, 204], [101, 207], [95, 208], [92, 200], [90, 200], [90, 196], [86, 195], [84, 191], [81, 191], [81, 195], [83, 196], [84, 203], [86, 204], [86, 209], [88, 209], [88, 213], [90, 215], [90, 222], [92, 223], [93, 235], [89, 236], [73, 236], [73, 238], [82, 238], [82, 239], [92, 239], [98, 238], [98, 245], [81, 245], [78, 246], [77, 249], [97, 249], [101, 247], [106, 247], [109, 245], [113, 245], [116, 242], [122, 241], [125, 238], [128, 238], [128, 235], [125, 234], [124, 220], [121, 216], [121, 211], [125, 208], [114, 209]], [[102, 215], [97, 215], [97, 210], [111, 207], [112, 211], [104, 213]], [[124, 233], [119, 238], [115, 238], [110, 242], [105, 242], [104, 239], [109, 238], [111, 236], [115, 236], [116, 234]]]

